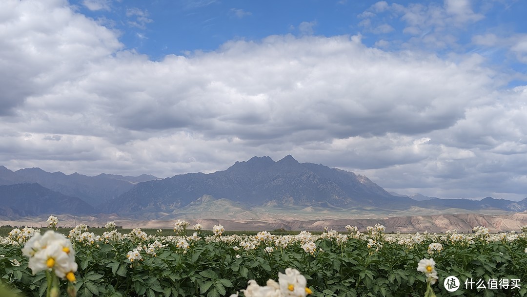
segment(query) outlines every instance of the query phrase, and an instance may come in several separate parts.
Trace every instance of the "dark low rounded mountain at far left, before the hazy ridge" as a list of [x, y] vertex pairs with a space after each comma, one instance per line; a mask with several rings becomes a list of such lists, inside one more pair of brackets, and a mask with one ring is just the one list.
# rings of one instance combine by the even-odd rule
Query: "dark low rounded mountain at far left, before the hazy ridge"
[[2, 216], [93, 213], [95, 209], [83, 200], [52, 191], [37, 183], [0, 186]]

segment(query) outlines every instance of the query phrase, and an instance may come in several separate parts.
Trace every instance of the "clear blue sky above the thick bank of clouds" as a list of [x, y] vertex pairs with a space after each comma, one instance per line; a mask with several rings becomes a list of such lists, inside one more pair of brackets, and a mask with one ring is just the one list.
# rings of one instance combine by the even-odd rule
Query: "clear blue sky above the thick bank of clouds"
[[[488, 58], [489, 63], [505, 64], [514, 71], [526, 70], [523, 63], [508, 56], [508, 46], [500, 44], [499, 38], [483, 42], [486, 44], [474, 40], [477, 36], [480, 39], [486, 36], [488, 40], [492, 35], [514, 38], [513, 32], [525, 33], [527, 3], [523, 1], [473, 1], [468, 5], [471, 14], [454, 17], [446, 12], [447, 4], [442, 1], [83, 0], [73, 3], [86, 16], [119, 30], [126, 49], [147, 54], [152, 60], [161, 60], [167, 54], [214, 51], [229, 41], [259, 41], [269, 35], [360, 33], [368, 46], [380, 46], [379, 41], [389, 42], [382, 46], [385, 50], [404, 50], [412, 45], [441, 56], [453, 52], [479, 53]], [[421, 13], [421, 17], [430, 17], [429, 23], [415, 26], [417, 32], [414, 34], [409, 33], [408, 25], [412, 21], [406, 10], [412, 7], [418, 7], [415, 12]], [[433, 12], [434, 9], [437, 12]], [[433, 13], [437, 13], [441, 21], [434, 21]], [[452, 42], [423, 46], [423, 38], [435, 31], [448, 35]]]

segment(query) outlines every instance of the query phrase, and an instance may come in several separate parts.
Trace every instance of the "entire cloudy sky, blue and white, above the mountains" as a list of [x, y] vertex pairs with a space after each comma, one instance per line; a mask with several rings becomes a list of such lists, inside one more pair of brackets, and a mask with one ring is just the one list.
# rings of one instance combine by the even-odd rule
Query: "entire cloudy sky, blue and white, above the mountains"
[[171, 177], [292, 155], [527, 197], [526, 1], [1, 0], [0, 165]]

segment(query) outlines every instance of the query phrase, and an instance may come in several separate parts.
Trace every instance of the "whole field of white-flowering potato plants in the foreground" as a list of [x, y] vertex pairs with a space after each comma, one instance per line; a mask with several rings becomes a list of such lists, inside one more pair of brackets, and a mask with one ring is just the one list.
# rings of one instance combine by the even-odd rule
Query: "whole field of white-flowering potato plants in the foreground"
[[[107, 227], [102, 235], [84, 225], [70, 231], [73, 250], [67, 251], [74, 253], [76, 271], [55, 293], [71, 295], [74, 286], [77, 296], [527, 296], [527, 226], [500, 234], [484, 227], [472, 234], [385, 234], [376, 225], [362, 232], [347, 226], [345, 233], [228, 236], [221, 225], [203, 235], [202, 226], [184, 221], [175, 223], [172, 236]], [[188, 236], [188, 228], [195, 233]], [[24, 228], [0, 237], [1, 281], [19, 296], [49, 295], [48, 274], [59, 272], [50, 257], [40, 262], [48, 269], [34, 269], [46, 248], [31, 239], [46, 235], [35, 234]], [[37, 248], [28, 252], [26, 244]], [[280, 291], [282, 283], [269, 281], [277, 291], [250, 289], [284, 279], [289, 268], [305, 276], [307, 288]], [[460, 281], [452, 292], [444, 284], [449, 276]], [[248, 286], [250, 280], [256, 286]]]

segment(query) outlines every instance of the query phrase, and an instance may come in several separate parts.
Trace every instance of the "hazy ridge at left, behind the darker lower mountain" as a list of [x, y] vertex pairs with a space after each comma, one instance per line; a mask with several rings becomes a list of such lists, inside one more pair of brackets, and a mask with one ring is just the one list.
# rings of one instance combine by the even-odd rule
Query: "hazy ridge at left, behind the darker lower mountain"
[[106, 174], [85, 176], [78, 173], [65, 175], [61, 172], [48, 173], [40, 168], [11, 171], [0, 166], [0, 185], [38, 183], [66, 196], [79, 197], [94, 207], [125, 193], [133, 188], [136, 183], [153, 179], [157, 179], [157, 177]]

